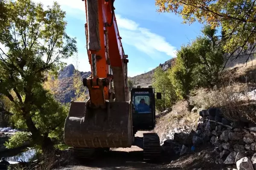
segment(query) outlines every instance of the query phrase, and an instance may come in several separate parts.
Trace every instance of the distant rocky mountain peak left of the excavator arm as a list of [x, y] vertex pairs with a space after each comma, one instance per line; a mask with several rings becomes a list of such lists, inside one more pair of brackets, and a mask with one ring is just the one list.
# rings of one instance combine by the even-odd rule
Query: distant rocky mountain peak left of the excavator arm
[[[74, 71], [75, 71], [75, 67], [73, 66], [73, 64], [70, 64], [64, 67], [64, 69], [59, 72], [59, 75], [58, 75], [59, 87], [58, 87], [57, 98], [61, 103], [68, 103], [71, 101], [72, 98], [75, 97], [75, 90], [73, 88]], [[87, 78], [91, 74], [91, 72], [79, 72], [79, 73], [82, 78]]]

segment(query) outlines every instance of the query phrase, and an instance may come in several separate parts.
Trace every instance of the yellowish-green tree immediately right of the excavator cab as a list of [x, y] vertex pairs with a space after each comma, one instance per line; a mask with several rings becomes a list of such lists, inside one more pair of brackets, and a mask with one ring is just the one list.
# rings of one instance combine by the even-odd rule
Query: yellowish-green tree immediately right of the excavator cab
[[158, 110], [163, 111], [175, 103], [177, 96], [167, 71], [165, 72], [161, 67], [157, 67], [157, 69], [154, 71], [152, 85], [154, 86], [156, 92], [162, 93], [162, 99], [156, 100], [156, 108]]

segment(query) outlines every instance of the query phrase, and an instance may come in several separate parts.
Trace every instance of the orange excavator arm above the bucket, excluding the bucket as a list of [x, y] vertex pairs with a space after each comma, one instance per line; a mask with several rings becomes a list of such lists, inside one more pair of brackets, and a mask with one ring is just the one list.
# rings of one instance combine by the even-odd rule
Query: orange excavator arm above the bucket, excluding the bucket
[[128, 56], [122, 47], [114, 0], [83, 1], [87, 20], [86, 46], [92, 72], [90, 78], [83, 79], [83, 84], [89, 89], [90, 107], [105, 108], [105, 101], [113, 101], [113, 98], [128, 101]]

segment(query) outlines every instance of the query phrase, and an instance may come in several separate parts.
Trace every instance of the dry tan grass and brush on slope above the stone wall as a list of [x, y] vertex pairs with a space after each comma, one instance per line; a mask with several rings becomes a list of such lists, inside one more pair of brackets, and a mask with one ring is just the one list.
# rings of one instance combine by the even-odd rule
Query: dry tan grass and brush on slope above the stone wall
[[[254, 67], [250, 67], [250, 69]], [[256, 122], [256, 102], [250, 98], [249, 93], [255, 89], [255, 85], [251, 82], [237, 82], [236, 76], [244, 76], [242, 69], [229, 76], [229, 81], [224, 83], [217, 89], [198, 89], [197, 94], [190, 98], [192, 104], [208, 109], [211, 107], [221, 108], [221, 112], [231, 121], [239, 121], [241, 118], [247, 118], [252, 122]], [[248, 69], [247, 69], [248, 71]]]

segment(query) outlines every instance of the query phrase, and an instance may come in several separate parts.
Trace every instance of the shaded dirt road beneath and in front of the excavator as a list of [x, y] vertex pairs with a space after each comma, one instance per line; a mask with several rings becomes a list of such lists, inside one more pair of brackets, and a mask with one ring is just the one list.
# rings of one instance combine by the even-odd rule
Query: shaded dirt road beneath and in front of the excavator
[[[138, 132], [136, 136], [143, 136], [145, 132]], [[58, 170], [227, 170], [235, 166], [215, 164], [218, 154], [214, 147], [206, 146], [197, 148], [195, 152], [184, 156], [163, 156], [158, 163], [143, 161], [143, 150], [139, 147], [118, 148], [110, 150], [105, 155], [99, 156], [94, 161], [80, 162], [79, 165], [70, 165]]]

